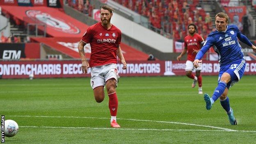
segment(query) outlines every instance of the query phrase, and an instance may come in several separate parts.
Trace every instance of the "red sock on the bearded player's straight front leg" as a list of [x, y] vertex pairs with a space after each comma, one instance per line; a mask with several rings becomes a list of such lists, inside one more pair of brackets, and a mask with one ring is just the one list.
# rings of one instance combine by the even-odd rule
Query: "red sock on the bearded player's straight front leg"
[[118, 107], [118, 99], [117, 99], [117, 93], [108, 94], [109, 97], [109, 103], [108, 107], [110, 108], [110, 115], [111, 116], [117, 116], [117, 107]]

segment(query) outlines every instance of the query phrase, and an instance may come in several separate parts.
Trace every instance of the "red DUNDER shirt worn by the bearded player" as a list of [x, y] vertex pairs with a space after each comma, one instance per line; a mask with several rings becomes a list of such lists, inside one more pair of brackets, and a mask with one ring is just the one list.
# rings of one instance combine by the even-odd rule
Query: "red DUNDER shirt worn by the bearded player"
[[112, 25], [107, 30], [101, 22], [91, 25], [81, 39], [91, 45], [90, 67], [117, 64], [117, 46], [121, 42], [121, 30]]

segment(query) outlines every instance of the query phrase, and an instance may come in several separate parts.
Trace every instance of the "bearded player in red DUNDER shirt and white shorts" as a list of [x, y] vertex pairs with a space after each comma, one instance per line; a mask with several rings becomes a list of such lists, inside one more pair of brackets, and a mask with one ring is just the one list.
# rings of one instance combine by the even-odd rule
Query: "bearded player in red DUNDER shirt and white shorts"
[[[118, 81], [117, 56], [126, 69], [126, 61], [119, 46], [121, 42], [121, 31], [110, 23], [114, 9], [104, 5], [100, 9], [101, 22], [90, 26], [78, 44], [79, 54], [82, 60], [82, 71], [87, 73], [91, 67], [91, 87], [94, 91], [96, 102], [104, 100], [104, 86], [109, 96], [109, 109], [111, 114], [110, 125], [120, 128], [117, 124], [118, 99], [116, 86]], [[84, 46], [90, 43], [90, 63], [85, 58]]]

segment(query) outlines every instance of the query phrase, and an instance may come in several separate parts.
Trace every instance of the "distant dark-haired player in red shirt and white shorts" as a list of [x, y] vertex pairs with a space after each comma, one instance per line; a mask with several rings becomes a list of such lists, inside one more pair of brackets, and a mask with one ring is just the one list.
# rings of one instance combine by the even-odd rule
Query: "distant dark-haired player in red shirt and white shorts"
[[197, 76], [195, 76], [192, 73], [192, 70], [195, 69], [194, 65], [193, 65], [194, 58], [196, 57], [197, 53], [201, 49], [201, 45], [203, 45], [204, 40], [199, 34], [196, 33], [197, 26], [195, 24], [193, 24], [193, 23], [189, 24], [187, 26], [187, 29], [188, 29], [189, 35], [187, 35], [184, 38], [184, 41], [185, 41], [184, 42], [184, 49], [181, 52], [181, 54], [177, 57], [177, 60], [180, 60], [181, 57], [183, 55], [185, 55], [185, 53], [187, 53], [187, 62], [186, 62], [186, 68], [185, 68], [186, 75], [187, 75], [187, 77], [194, 80], [193, 83], [192, 83], [192, 88], [194, 88], [196, 86], [196, 83], [198, 81], [198, 86], [199, 86], [198, 94], [203, 94], [202, 76], [201, 76], [201, 73], [200, 73], [202, 68], [201, 68], [201, 66], [199, 66], [196, 69], [196, 75]]

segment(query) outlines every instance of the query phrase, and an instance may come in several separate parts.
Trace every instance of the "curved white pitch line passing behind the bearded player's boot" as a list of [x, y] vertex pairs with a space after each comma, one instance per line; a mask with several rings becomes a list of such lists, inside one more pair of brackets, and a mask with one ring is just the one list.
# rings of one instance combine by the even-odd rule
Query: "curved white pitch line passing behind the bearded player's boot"
[[[78, 118], [78, 119], [109, 119], [103, 117], [67, 117], [67, 116], [9, 116], [9, 117], [53, 117], [53, 118]], [[179, 122], [172, 122], [172, 121], [152, 121], [152, 120], [143, 120], [143, 119], [121, 119], [121, 120], [128, 120], [128, 121], [148, 121], [148, 122], [156, 122], [156, 123], [174, 123], [174, 124], [183, 124], [183, 125], [190, 125], [190, 126], [201, 126], [206, 128], [216, 128], [225, 131], [238, 131], [232, 130], [229, 128], [221, 128], [216, 126], [205, 126], [205, 125], [198, 125], [193, 123], [179, 123]]]

